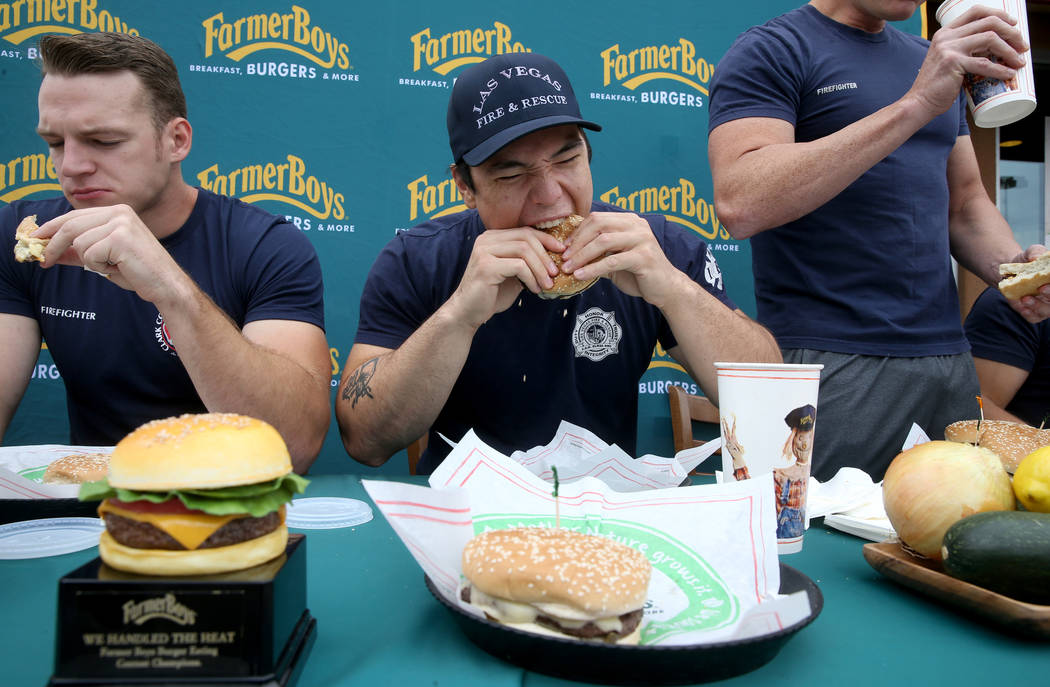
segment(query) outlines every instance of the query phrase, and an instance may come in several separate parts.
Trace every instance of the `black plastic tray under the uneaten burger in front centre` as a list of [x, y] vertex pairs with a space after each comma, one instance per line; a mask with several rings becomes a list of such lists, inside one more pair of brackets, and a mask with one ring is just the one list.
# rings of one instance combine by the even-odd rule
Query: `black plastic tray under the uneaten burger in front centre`
[[[424, 576], [425, 578], [425, 576]], [[810, 617], [776, 632], [700, 645], [622, 646], [534, 634], [469, 613], [449, 603], [425, 578], [426, 588], [452, 611], [467, 638], [492, 655], [544, 674], [606, 685], [688, 685], [724, 680], [759, 668], [824, 607], [813, 580], [780, 564], [780, 592], [804, 589]]]

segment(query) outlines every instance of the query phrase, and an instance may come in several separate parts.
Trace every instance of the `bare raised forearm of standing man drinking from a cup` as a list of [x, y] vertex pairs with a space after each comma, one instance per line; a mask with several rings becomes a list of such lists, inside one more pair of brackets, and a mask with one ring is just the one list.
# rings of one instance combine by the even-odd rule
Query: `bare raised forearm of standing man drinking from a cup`
[[[925, 123], [921, 108], [905, 99], [804, 143], [794, 142], [786, 122], [723, 124], [712, 131], [709, 147], [719, 220], [734, 238], [798, 220], [842, 192]], [[746, 127], [754, 124], [770, 129], [753, 149], [737, 155], [731, 139], [748, 136]], [[733, 152], [722, 157], [720, 150]]]

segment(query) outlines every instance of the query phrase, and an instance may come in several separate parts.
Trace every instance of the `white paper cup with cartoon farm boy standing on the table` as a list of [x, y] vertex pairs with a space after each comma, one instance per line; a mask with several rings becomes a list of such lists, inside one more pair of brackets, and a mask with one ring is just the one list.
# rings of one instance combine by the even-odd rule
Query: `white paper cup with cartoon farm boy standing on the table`
[[773, 473], [777, 548], [802, 550], [822, 365], [715, 362], [724, 479]]

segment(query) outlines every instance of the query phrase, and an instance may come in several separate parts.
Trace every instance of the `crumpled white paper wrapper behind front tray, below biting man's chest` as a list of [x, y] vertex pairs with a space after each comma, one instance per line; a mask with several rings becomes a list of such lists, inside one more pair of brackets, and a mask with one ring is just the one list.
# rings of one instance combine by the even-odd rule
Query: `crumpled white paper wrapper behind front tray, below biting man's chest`
[[720, 447], [719, 437], [679, 451], [673, 458], [646, 455], [635, 460], [620, 446], [610, 445], [592, 432], [563, 420], [547, 445], [516, 451], [510, 458], [548, 482], [554, 477], [551, 466], [556, 465], [562, 484], [590, 476], [616, 492], [640, 492], [678, 486]]

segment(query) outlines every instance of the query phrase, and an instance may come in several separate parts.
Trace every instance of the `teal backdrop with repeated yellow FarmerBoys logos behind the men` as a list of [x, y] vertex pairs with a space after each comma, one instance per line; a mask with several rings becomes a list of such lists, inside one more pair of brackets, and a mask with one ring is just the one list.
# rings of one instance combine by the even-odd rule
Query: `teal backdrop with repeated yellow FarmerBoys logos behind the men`
[[[156, 41], [178, 67], [194, 127], [187, 181], [286, 215], [320, 255], [334, 397], [376, 254], [398, 230], [463, 208], [445, 130], [457, 75], [490, 55], [530, 50], [562, 64], [584, 116], [604, 126], [591, 136], [595, 196], [702, 235], [731, 296], [754, 315], [750, 246], [730, 238], [712, 202], [708, 87], [737, 35], [799, 4], [0, 2], [0, 202], [60, 192], [34, 132], [38, 38], [122, 30]], [[924, 13], [901, 28], [924, 34]], [[67, 442], [46, 345], [33, 377], [4, 444]], [[668, 384], [698, 391], [657, 349], [640, 381], [639, 455], [672, 453]], [[313, 470], [376, 474], [346, 456], [334, 418]], [[406, 470], [395, 456], [379, 472]]]

